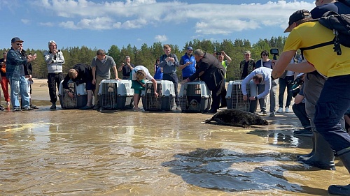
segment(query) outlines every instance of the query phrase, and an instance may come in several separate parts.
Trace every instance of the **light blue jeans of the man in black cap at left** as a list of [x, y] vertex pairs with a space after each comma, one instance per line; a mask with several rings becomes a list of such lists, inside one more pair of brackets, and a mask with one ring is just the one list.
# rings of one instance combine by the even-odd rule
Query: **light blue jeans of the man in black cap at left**
[[29, 107], [29, 93], [28, 93], [28, 82], [24, 76], [18, 79], [13, 77], [9, 78], [11, 87], [11, 104], [13, 108], [20, 108], [20, 101], [18, 100], [18, 94], [22, 98], [22, 107]]

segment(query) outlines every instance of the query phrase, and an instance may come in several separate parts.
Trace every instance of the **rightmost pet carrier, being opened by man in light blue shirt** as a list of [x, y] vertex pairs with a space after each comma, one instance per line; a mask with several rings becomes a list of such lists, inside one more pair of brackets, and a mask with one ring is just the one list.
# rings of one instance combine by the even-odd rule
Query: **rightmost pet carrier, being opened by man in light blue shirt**
[[[237, 109], [237, 110], [250, 112], [251, 100], [249, 99], [243, 100], [243, 94], [241, 93], [241, 82], [242, 82], [241, 80], [237, 80], [237, 81], [230, 81], [228, 83], [228, 93], [226, 94], [228, 109]], [[252, 84], [246, 85], [246, 92], [247, 92], [248, 98], [251, 96], [251, 86]]]

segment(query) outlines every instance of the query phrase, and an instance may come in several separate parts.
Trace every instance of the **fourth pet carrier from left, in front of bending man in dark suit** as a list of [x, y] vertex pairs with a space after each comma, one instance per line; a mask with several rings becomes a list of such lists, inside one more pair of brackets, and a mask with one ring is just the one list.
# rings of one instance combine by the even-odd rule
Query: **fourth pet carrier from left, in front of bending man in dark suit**
[[207, 112], [211, 103], [211, 91], [203, 81], [181, 84], [179, 100], [182, 112]]

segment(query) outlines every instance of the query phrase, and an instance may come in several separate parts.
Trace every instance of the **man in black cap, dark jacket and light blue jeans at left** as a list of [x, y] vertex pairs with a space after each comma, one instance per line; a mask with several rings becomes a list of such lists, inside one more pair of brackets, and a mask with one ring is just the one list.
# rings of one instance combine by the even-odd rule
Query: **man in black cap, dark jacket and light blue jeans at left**
[[22, 56], [20, 50], [23, 47], [23, 40], [18, 37], [12, 38], [11, 49], [7, 53], [6, 61], [6, 77], [10, 81], [10, 98], [13, 112], [22, 111], [18, 94], [22, 98], [23, 110], [34, 110], [29, 107], [28, 83], [25, 78], [25, 63], [34, 61], [36, 56], [28, 55], [26, 58]]

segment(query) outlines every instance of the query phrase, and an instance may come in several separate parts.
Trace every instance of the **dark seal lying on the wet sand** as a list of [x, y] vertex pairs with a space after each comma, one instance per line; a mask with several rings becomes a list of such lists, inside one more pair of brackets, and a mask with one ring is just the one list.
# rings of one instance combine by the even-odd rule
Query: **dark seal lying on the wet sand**
[[216, 121], [217, 123], [228, 126], [241, 126], [244, 128], [251, 125], [269, 125], [269, 122], [261, 116], [236, 109], [226, 109], [216, 112], [211, 118], [202, 121], [202, 123], [209, 123], [210, 121]]

